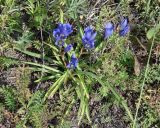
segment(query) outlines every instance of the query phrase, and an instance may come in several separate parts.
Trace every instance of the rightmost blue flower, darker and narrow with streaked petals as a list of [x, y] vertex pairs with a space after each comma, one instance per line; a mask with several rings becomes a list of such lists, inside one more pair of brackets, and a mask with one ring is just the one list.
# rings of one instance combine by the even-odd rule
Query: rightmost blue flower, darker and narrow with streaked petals
[[119, 35], [125, 36], [130, 31], [130, 25], [127, 18], [124, 18], [119, 24]]

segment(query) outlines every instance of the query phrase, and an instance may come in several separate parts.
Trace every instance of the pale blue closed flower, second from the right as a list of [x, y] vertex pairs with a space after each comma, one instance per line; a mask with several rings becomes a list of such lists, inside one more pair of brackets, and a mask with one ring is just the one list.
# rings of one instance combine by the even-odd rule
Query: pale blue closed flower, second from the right
[[108, 37], [110, 37], [113, 34], [114, 31], [114, 24], [109, 22], [106, 24], [105, 26], [105, 39], [107, 39]]

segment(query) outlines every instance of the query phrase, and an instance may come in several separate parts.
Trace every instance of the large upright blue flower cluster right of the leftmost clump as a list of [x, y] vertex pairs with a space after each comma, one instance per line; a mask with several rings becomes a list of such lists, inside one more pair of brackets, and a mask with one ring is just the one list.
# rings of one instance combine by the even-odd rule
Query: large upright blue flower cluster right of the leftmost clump
[[84, 35], [82, 37], [83, 45], [86, 49], [94, 48], [95, 37], [97, 33], [89, 26], [85, 28]]

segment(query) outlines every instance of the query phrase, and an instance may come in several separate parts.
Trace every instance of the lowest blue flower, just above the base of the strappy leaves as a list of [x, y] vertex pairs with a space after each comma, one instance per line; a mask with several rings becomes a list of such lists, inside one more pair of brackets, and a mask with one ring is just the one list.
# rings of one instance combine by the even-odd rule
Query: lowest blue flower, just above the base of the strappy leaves
[[69, 64], [67, 65], [67, 68], [77, 68], [78, 66], [78, 59], [76, 58], [75, 54], [72, 54], [71, 60]]

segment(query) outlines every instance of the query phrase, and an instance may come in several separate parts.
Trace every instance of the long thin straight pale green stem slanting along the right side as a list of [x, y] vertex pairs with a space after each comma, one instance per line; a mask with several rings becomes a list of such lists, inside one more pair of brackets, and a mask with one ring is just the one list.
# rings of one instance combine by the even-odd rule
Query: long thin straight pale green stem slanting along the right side
[[154, 45], [154, 39], [155, 39], [155, 37], [153, 37], [151, 48], [150, 48], [150, 52], [149, 52], [149, 56], [148, 56], [148, 60], [147, 60], [147, 66], [146, 66], [146, 70], [145, 70], [145, 74], [144, 74], [143, 83], [142, 83], [142, 86], [141, 86], [139, 101], [138, 101], [138, 104], [137, 104], [137, 110], [136, 110], [135, 118], [134, 118], [134, 121], [133, 121], [133, 128], [136, 128], [136, 121], [137, 121], [138, 111], [139, 111], [139, 108], [140, 108], [140, 105], [141, 105], [144, 85], [145, 85], [145, 81], [146, 81], [146, 78], [147, 78], [147, 75], [148, 75], [149, 62], [150, 62], [151, 53], [152, 53], [152, 49], [153, 49], [153, 45]]

